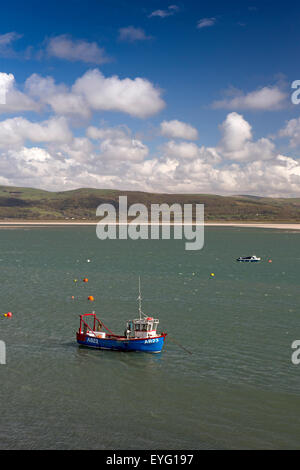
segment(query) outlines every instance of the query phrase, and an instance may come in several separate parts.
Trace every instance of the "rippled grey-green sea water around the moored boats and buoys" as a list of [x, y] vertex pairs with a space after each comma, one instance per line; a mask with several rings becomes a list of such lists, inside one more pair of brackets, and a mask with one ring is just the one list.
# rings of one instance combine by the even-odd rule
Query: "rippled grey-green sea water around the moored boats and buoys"
[[[95, 227], [1, 229], [0, 243], [0, 312], [13, 312], [0, 449], [300, 448], [300, 232], [209, 227], [190, 252]], [[235, 261], [252, 254], [263, 261]], [[138, 276], [163, 352], [79, 348], [81, 313], [116, 333], [136, 317]]]

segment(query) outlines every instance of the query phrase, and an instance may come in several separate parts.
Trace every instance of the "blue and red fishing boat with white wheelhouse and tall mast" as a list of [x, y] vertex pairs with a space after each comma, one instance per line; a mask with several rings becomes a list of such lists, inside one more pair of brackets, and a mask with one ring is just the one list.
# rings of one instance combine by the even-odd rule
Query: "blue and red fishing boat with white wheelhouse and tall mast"
[[142, 351], [160, 353], [167, 333], [158, 333], [157, 318], [142, 312], [141, 284], [139, 280], [139, 318], [129, 320], [122, 336], [114, 334], [97, 318], [95, 312], [80, 315], [77, 343], [94, 349], [116, 351]]

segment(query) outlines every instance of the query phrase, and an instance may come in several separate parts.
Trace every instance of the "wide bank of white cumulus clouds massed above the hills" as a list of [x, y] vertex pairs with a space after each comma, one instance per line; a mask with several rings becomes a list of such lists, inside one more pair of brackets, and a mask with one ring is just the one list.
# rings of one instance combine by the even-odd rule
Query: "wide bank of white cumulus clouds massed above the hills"
[[[37, 83], [36, 92], [42, 93], [54, 82]], [[267, 138], [255, 140], [251, 125], [236, 112], [221, 124], [216, 147], [174, 139], [155, 154], [127, 126], [89, 126], [85, 136], [74, 136], [69, 126], [67, 118], [57, 116], [0, 122], [0, 182], [49, 190], [300, 196], [299, 160], [281, 155]]]

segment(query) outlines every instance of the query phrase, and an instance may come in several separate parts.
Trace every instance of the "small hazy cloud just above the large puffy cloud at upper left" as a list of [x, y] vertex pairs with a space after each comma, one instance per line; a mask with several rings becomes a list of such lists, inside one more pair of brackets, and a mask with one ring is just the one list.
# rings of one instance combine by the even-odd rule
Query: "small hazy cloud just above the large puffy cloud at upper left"
[[50, 57], [90, 64], [103, 64], [108, 61], [105, 51], [96, 42], [72, 39], [66, 34], [48, 40], [47, 54]]

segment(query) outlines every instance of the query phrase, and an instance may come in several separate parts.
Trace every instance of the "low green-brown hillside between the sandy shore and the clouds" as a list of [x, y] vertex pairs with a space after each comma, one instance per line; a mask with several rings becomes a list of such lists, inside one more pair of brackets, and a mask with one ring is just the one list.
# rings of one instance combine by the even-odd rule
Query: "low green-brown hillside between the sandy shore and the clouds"
[[96, 208], [127, 195], [128, 204], [205, 204], [207, 221], [299, 222], [300, 198], [274, 199], [258, 196], [210, 194], [156, 194], [137, 191], [82, 188], [50, 192], [0, 186], [0, 220], [97, 220]]

